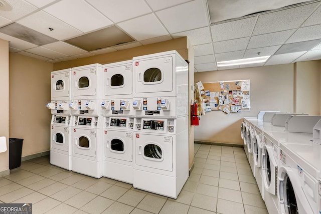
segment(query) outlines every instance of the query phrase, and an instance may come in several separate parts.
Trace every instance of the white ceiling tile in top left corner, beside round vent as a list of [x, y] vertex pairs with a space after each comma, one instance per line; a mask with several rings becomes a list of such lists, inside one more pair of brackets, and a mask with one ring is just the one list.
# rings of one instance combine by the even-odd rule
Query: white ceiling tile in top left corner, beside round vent
[[0, 11], [0, 17], [4, 17], [11, 21], [15, 21], [37, 10], [36, 7], [21, 0], [11, 0], [10, 4], [12, 6], [12, 10]]

